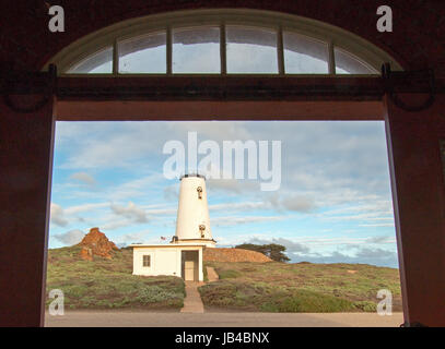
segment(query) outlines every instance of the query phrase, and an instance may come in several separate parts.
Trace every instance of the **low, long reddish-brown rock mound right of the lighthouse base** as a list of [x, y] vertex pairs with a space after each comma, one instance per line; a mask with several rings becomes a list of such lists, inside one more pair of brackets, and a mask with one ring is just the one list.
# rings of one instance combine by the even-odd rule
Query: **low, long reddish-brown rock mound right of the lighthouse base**
[[243, 249], [208, 248], [203, 252], [203, 261], [208, 262], [272, 262], [262, 253]]

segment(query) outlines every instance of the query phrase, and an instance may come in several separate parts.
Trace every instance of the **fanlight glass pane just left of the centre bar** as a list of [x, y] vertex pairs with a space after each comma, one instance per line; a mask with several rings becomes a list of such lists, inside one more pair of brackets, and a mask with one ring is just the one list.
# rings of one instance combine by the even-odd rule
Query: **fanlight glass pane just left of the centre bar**
[[173, 29], [174, 73], [221, 73], [220, 28]]

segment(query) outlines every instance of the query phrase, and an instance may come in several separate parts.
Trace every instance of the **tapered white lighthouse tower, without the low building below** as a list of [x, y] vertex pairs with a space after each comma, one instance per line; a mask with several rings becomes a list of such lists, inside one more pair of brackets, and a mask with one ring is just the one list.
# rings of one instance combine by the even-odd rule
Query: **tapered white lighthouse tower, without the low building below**
[[172, 243], [202, 243], [208, 248], [214, 248], [216, 243], [210, 230], [206, 179], [200, 174], [180, 178], [176, 236]]

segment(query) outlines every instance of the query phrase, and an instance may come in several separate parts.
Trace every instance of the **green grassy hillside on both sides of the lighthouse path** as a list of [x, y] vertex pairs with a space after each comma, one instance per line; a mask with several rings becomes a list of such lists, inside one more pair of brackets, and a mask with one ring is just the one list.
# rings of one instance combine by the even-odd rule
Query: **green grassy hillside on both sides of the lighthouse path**
[[[49, 250], [47, 292], [61, 289], [71, 309], [178, 310], [183, 279], [132, 275], [132, 250], [113, 258], [80, 257], [81, 246]], [[204, 262], [220, 280], [199, 288], [206, 308], [261, 312], [375, 312], [379, 289], [389, 289], [401, 310], [397, 269], [365, 264]], [[51, 299], [47, 298], [47, 303]]]

